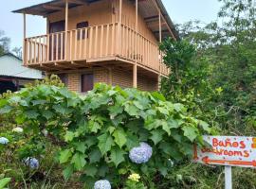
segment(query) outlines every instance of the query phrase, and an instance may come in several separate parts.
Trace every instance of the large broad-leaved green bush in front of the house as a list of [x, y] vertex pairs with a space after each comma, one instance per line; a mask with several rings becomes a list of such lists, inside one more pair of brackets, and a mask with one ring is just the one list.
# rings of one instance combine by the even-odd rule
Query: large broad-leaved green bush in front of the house
[[[211, 132], [184, 105], [166, 101], [162, 94], [104, 84], [80, 96], [39, 83], [2, 98], [0, 114], [15, 117], [29, 136], [18, 149], [21, 160], [40, 160], [47, 139], [61, 148], [64, 178], [76, 172], [86, 187], [101, 179], [122, 187], [131, 173], [153, 186], [153, 178], [166, 176], [173, 162], [190, 157], [193, 143], [203, 144], [202, 134]], [[152, 146], [153, 156], [138, 165], [129, 160], [129, 151], [140, 142]]]

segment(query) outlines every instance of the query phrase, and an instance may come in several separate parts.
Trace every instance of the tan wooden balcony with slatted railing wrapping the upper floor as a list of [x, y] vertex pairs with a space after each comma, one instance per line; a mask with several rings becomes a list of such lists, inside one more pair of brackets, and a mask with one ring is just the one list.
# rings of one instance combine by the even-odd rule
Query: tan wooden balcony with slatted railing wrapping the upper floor
[[137, 63], [141, 68], [167, 76], [169, 69], [161, 63], [160, 55], [157, 43], [119, 23], [51, 33], [24, 41], [24, 64], [42, 70], [54, 70], [57, 65], [68, 69], [84, 63], [119, 60]]

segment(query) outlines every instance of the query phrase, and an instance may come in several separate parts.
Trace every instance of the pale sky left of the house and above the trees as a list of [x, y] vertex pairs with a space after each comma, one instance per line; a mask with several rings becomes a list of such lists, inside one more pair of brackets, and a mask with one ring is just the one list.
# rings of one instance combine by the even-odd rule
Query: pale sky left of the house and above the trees
[[[204, 23], [214, 21], [220, 8], [218, 0], [162, 0], [175, 24], [191, 20]], [[47, 2], [46, 0], [2, 0], [0, 7], [0, 30], [10, 38], [10, 49], [22, 46], [23, 15], [12, 13], [12, 10]], [[46, 19], [38, 16], [27, 16], [27, 37], [44, 35]]]

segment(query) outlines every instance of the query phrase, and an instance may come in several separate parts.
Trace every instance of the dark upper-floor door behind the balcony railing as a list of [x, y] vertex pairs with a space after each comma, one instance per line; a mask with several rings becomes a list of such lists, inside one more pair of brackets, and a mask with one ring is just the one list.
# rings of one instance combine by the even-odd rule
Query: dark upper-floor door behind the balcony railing
[[[64, 21], [50, 23], [49, 24], [49, 33], [51, 34], [51, 33], [64, 31], [64, 26], [65, 26]], [[58, 48], [57, 48], [57, 39], [58, 39]], [[61, 49], [62, 49], [61, 42], [62, 41], [63, 41], [63, 57], [61, 57]], [[52, 52], [53, 52], [53, 54], [52, 54]], [[56, 56], [56, 53], [58, 54], [57, 56]], [[50, 35], [50, 37], [49, 37], [49, 60], [61, 60], [61, 59], [64, 59], [64, 34], [63, 34], [63, 37], [60, 33], [56, 34], [56, 35]]]

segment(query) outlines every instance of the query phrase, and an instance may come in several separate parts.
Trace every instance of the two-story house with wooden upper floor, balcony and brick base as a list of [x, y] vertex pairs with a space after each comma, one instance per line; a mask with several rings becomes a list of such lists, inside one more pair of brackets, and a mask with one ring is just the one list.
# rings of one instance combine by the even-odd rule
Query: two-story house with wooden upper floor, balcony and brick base
[[[96, 82], [155, 91], [169, 69], [158, 44], [178, 38], [161, 0], [52, 0], [24, 14], [24, 65], [58, 74], [72, 91]], [[26, 15], [46, 18], [46, 34], [26, 36]]]

